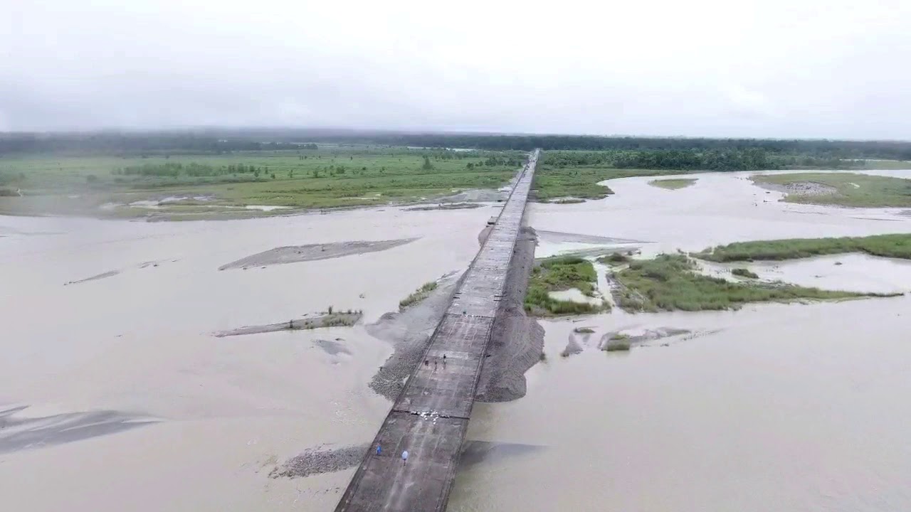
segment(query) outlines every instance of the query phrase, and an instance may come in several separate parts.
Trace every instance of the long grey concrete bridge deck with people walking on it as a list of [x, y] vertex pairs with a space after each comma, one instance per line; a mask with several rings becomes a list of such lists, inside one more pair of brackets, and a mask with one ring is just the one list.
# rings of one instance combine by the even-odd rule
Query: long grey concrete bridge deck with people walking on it
[[[418, 364], [408, 378], [335, 512], [445, 510], [539, 153], [436, 326], [425, 353], [430, 364]], [[380, 456], [376, 445], [383, 447]]]

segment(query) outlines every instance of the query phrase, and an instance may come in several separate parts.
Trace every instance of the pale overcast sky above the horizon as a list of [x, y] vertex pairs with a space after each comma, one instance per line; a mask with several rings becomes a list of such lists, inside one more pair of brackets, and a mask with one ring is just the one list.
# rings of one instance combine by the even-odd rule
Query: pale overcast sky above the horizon
[[911, 139], [908, 0], [0, 0], [0, 13], [0, 130]]

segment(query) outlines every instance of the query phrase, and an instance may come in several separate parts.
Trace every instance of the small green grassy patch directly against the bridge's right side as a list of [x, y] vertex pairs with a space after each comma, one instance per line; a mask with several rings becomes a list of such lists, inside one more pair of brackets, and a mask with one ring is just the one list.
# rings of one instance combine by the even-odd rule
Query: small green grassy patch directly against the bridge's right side
[[583, 314], [599, 312], [602, 306], [584, 302], [558, 301], [549, 292], [577, 288], [593, 297], [598, 274], [591, 261], [574, 256], [558, 256], [540, 261], [531, 271], [525, 295], [527, 312], [548, 314]]

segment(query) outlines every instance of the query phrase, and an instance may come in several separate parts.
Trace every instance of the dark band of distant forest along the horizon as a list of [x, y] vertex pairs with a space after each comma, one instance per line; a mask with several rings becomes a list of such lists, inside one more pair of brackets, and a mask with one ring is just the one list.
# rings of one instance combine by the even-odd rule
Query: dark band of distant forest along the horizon
[[[411, 146], [418, 148], [476, 148], [530, 150], [637, 151], [643, 158], [718, 159], [741, 155], [752, 163], [767, 158], [909, 159], [911, 141], [862, 141], [764, 138], [646, 138], [563, 135], [409, 134], [320, 129], [224, 129], [184, 132], [0, 133], [0, 155], [10, 153], [219, 154], [233, 151], [308, 150], [320, 144]], [[740, 159], [741, 156], [736, 158]], [[633, 162], [630, 162], [630, 164]], [[638, 166], [637, 166], [638, 167]], [[751, 166], [752, 167], [752, 166]]]

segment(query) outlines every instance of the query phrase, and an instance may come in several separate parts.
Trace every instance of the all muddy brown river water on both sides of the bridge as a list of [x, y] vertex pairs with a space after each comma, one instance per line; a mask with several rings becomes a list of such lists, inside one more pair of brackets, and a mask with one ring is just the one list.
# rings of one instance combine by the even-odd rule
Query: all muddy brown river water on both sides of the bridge
[[[700, 175], [680, 190], [619, 179], [606, 200], [531, 205], [537, 255], [911, 231], [899, 210], [783, 203], [748, 176]], [[211, 333], [329, 305], [373, 323], [424, 282], [464, 269], [492, 212], [0, 217], [0, 509], [333, 510], [353, 469], [268, 474], [315, 446], [373, 437], [389, 402], [367, 384], [392, 347], [363, 324]], [[218, 270], [276, 247], [404, 239], [416, 240]], [[903, 261], [751, 268], [911, 292]], [[527, 395], [475, 406], [468, 437], [486, 450], [463, 465], [450, 511], [911, 510], [911, 297], [542, 325], [547, 359], [528, 371]], [[560, 357], [580, 326], [594, 333]], [[662, 328], [689, 333], [630, 353], [598, 349], [605, 333]]]

